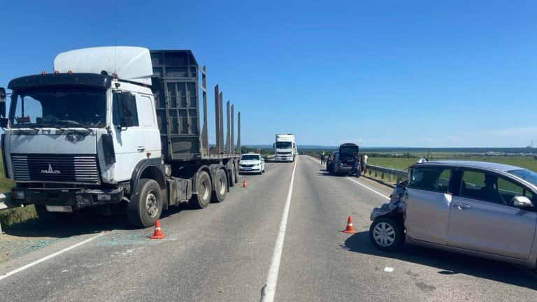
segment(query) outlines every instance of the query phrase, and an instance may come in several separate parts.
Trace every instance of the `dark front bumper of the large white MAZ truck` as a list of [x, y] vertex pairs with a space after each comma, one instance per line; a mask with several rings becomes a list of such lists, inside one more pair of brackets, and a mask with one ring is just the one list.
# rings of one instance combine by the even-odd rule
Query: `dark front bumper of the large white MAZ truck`
[[52, 189], [15, 188], [13, 196], [21, 196], [16, 201], [24, 204], [43, 206], [70, 206], [73, 210], [107, 203], [119, 203], [123, 199], [123, 188], [116, 189]]

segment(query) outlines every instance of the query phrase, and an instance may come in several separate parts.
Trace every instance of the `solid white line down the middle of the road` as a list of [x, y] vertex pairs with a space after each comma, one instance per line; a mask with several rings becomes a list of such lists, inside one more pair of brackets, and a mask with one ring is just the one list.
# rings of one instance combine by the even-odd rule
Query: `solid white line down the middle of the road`
[[287, 192], [287, 200], [285, 201], [285, 207], [283, 208], [282, 222], [280, 223], [278, 238], [276, 238], [276, 245], [274, 247], [274, 254], [272, 255], [271, 267], [268, 269], [268, 278], [266, 278], [264, 293], [261, 299], [262, 302], [274, 301], [276, 285], [278, 283], [278, 271], [280, 271], [280, 261], [282, 259], [283, 240], [285, 238], [285, 229], [287, 229], [287, 217], [289, 217], [291, 196], [293, 195], [294, 171], [296, 170], [296, 163], [299, 161], [298, 158], [299, 157], [296, 157], [296, 161], [294, 162], [293, 173], [291, 174], [291, 182], [289, 183], [289, 192]]

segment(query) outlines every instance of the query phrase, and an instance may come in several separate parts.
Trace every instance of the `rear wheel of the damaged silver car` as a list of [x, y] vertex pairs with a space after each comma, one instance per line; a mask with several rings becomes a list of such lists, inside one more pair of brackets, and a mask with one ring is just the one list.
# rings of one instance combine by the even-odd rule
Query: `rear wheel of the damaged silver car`
[[369, 238], [379, 250], [398, 250], [403, 244], [404, 236], [401, 224], [389, 217], [378, 217], [369, 227]]

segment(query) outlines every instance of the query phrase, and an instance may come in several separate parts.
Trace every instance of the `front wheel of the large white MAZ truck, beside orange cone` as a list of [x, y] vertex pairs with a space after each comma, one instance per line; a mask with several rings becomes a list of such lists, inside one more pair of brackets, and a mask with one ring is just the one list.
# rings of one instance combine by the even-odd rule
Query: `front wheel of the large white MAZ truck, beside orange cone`
[[133, 227], [152, 227], [162, 214], [162, 189], [150, 178], [138, 182], [139, 193], [129, 203], [129, 224]]

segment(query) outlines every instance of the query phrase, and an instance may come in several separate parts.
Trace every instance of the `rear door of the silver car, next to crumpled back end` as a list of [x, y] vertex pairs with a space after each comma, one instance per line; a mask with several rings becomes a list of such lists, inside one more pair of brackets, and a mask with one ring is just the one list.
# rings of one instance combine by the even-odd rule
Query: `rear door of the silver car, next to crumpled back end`
[[403, 200], [406, 201], [405, 228], [410, 238], [445, 245], [450, 215], [451, 168], [414, 167]]

